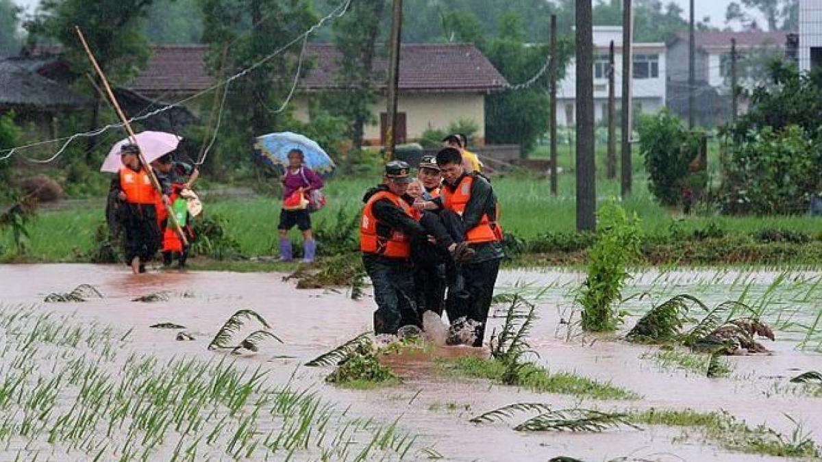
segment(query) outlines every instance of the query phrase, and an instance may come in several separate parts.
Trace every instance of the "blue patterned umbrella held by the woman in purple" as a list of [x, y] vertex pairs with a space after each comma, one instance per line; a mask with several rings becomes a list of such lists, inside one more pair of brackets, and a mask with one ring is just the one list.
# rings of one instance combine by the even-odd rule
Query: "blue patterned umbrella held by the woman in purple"
[[280, 172], [288, 166], [289, 151], [293, 149], [302, 150], [305, 165], [323, 176], [329, 176], [336, 167], [334, 161], [320, 145], [316, 144], [316, 141], [298, 133], [282, 132], [257, 136], [254, 149], [267, 164], [279, 169]]

